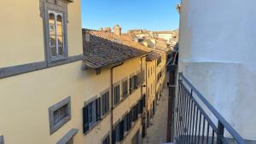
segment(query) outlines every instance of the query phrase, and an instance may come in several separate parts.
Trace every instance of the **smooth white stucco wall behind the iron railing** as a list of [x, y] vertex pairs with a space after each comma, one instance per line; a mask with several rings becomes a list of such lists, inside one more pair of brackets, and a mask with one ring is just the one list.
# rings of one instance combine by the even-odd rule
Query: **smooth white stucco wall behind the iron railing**
[[183, 0], [179, 72], [242, 137], [256, 140], [256, 1]]

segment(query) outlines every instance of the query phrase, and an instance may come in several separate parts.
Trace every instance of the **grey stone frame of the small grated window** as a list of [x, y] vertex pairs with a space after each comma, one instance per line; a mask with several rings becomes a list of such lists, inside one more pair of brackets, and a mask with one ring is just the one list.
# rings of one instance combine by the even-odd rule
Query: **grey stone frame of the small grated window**
[[[55, 124], [54, 112], [61, 107], [67, 105], [67, 116], [62, 118], [58, 124]], [[55, 105], [49, 107], [49, 134], [52, 135], [56, 130], [59, 130], [62, 125], [66, 124], [71, 120], [71, 96], [68, 96], [66, 99], [56, 103]]]

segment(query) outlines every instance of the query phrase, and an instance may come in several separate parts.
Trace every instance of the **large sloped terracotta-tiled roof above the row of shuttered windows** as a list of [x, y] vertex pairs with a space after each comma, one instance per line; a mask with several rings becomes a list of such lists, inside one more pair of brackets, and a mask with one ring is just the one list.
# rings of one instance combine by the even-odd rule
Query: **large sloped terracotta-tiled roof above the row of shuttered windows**
[[84, 37], [85, 34], [90, 40], [83, 39], [84, 63], [90, 68], [101, 69], [113, 66], [150, 52], [150, 49], [136, 43], [131, 37], [83, 29]]

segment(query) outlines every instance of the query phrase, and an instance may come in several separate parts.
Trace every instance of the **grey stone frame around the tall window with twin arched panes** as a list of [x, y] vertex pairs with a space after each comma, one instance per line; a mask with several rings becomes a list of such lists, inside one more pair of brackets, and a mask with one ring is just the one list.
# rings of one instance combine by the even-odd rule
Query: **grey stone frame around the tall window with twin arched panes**
[[[66, 0], [66, 1], [57, 1], [56, 3], [53, 3], [49, 0], [41, 0], [41, 15], [43, 18], [43, 24], [44, 24], [44, 54], [45, 54], [45, 60], [48, 62], [48, 64], [53, 64], [56, 62], [60, 62], [63, 60], [67, 60], [68, 57], [68, 43], [67, 43], [67, 3], [73, 2], [72, 0]], [[43, 3], [43, 4], [42, 4]], [[51, 49], [50, 49], [50, 40], [49, 40], [49, 13], [54, 14], [61, 14], [62, 15], [62, 55], [58, 56], [51, 56]], [[56, 16], [55, 16], [56, 17]], [[56, 21], [55, 21], [56, 22]], [[56, 25], [56, 24], [55, 24]], [[55, 30], [56, 32], [56, 30]], [[55, 35], [57, 35], [55, 33]], [[57, 39], [55, 39], [57, 41]], [[55, 45], [55, 49], [57, 48], [57, 45]]]

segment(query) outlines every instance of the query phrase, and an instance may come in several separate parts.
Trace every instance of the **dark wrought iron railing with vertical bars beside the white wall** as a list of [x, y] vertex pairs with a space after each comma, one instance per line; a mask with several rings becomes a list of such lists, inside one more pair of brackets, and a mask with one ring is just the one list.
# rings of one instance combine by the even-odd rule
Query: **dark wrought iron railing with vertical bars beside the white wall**
[[245, 144], [236, 130], [195, 89], [178, 75], [174, 138], [177, 144]]

